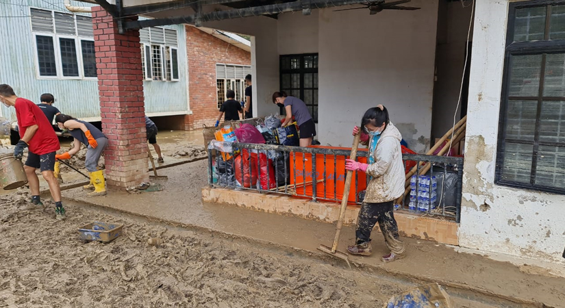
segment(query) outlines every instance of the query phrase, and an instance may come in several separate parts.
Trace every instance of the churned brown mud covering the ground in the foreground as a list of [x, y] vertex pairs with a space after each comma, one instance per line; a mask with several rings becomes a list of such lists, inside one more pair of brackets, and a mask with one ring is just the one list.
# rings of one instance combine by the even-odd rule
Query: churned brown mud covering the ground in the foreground
[[[0, 197], [0, 307], [382, 307], [410, 286], [211, 233], [67, 205], [25, 209]], [[82, 242], [93, 220], [124, 224], [110, 242]], [[160, 237], [164, 244], [149, 246]], [[490, 307], [455, 300], [457, 308]]]

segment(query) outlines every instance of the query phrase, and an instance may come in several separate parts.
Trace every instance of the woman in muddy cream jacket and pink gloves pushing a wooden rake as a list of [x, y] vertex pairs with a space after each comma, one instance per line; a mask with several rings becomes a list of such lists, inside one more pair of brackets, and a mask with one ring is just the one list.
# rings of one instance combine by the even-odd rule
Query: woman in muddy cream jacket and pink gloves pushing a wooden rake
[[394, 220], [394, 200], [404, 193], [404, 166], [399, 130], [388, 120], [383, 105], [373, 107], [363, 116], [361, 129], [355, 127], [353, 136], [361, 133], [368, 145], [368, 164], [346, 159], [347, 170], [361, 170], [371, 177], [357, 218], [355, 244], [347, 247], [352, 255], [371, 255], [371, 231], [378, 222], [390, 250], [381, 259], [385, 262], [405, 256], [404, 243], [399, 240], [397, 221]]

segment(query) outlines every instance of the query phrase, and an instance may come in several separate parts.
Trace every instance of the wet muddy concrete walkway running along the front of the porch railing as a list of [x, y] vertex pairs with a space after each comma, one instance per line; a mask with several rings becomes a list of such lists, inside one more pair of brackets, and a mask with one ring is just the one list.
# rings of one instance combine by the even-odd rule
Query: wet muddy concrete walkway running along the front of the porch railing
[[[85, 198], [80, 188], [66, 190], [64, 198], [85, 205], [110, 207], [140, 216], [184, 224], [186, 227], [211, 229], [241, 235], [260, 242], [296, 248], [312, 257], [325, 257], [316, 248], [331, 245], [334, 224], [267, 214], [220, 204], [203, 204], [201, 188], [206, 184], [207, 161], [194, 162], [160, 170], [167, 175], [161, 192], [111, 192], [108, 196]], [[69, 213], [72, 215], [72, 213]], [[344, 251], [355, 238], [353, 227], [345, 227], [339, 249]], [[384, 264], [380, 256], [387, 253], [382, 235], [373, 233], [373, 255], [353, 257], [355, 266], [382, 273], [393, 279], [437, 281], [449, 292], [461, 296], [479, 294], [497, 301], [501, 307], [564, 307], [565, 278], [550, 274], [537, 266], [514, 266], [481, 255], [425, 240], [403, 239], [407, 243], [405, 259]], [[326, 258], [336, 266], [338, 259]], [[519, 262], [519, 261], [518, 261]], [[523, 263], [522, 263], [523, 264]], [[508, 304], [511, 303], [511, 304]], [[547, 305], [547, 306], [543, 306]]]

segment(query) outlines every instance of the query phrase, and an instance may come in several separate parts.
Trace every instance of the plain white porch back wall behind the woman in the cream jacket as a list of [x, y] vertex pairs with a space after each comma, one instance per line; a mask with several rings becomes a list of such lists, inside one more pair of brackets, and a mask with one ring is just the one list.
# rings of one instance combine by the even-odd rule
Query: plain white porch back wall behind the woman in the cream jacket
[[[429, 146], [438, 0], [417, 11], [321, 10], [319, 139], [351, 146], [351, 129], [385, 105], [414, 151]], [[347, 8], [347, 7], [343, 7]]]

